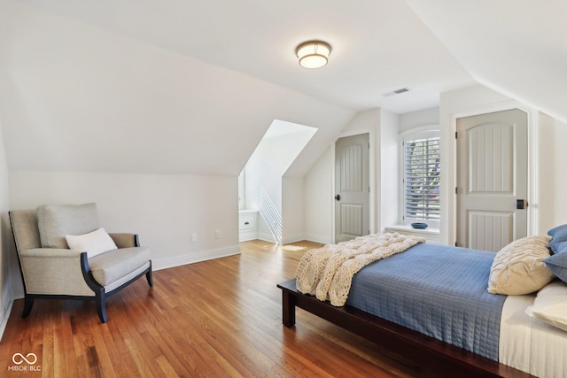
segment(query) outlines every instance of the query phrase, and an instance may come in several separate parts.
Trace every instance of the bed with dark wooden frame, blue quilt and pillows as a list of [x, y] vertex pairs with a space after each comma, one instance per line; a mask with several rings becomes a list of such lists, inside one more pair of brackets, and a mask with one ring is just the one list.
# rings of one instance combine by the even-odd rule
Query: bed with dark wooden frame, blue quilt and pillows
[[278, 285], [286, 327], [299, 307], [447, 375], [567, 376], [567, 225], [498, 253], [415, 243], [357, 270], [344, 305], [306, 293], [306, 255]]

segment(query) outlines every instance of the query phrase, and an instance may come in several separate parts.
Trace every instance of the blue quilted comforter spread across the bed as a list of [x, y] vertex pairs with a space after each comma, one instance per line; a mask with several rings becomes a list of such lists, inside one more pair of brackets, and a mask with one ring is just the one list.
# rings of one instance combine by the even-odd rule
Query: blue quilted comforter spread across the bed
[[494, 256], [420, 243], [354, 274], [346, 304], [497, 361], [506, 296], [486, 291]]

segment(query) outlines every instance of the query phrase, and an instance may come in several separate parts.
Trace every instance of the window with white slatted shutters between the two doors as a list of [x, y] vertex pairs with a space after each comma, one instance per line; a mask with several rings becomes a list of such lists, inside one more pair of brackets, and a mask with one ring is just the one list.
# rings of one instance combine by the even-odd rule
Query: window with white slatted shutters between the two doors
[[439, 130], [407, 135], [402, 150], [403, 223], [439, 227]]

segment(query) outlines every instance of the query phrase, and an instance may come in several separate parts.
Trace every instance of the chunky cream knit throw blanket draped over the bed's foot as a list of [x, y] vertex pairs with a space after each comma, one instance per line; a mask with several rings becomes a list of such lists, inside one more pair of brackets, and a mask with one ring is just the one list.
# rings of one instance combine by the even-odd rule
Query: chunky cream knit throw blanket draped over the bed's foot
[[338, 244], [307, 251], [299, 261], [296, 287], [321, 301], [342, 306], [351, 289], [353, 275], [362, 267], [395, 253], [406, 251], [423, 237], [398, 233], [359, 236]]

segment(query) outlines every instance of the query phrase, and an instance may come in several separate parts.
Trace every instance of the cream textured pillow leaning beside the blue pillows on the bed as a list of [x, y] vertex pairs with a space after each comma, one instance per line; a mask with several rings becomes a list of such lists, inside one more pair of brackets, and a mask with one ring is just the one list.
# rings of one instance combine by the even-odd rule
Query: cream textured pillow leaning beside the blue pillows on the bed
[[543, 263], [549, 257], [551, 236], [518, 239], [496, 253], [488, 279], [488, 292], [511, 296], [529, 294], [551, 282], [555, 276]]

